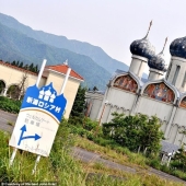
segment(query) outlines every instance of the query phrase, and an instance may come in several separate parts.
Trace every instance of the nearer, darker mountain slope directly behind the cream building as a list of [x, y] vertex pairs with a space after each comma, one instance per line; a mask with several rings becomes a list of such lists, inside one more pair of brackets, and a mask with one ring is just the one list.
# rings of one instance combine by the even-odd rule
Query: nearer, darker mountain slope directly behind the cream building
[[69, 66], [84, 78], [84, 84], [91, 89], [96, 85], [104, 90], [111, 78], [108, 71], [88, 56], [47, 45], [0, 23], [0, 59], [40, 65], [44, 58], [47, 65], [62, 63], [68, 59]]

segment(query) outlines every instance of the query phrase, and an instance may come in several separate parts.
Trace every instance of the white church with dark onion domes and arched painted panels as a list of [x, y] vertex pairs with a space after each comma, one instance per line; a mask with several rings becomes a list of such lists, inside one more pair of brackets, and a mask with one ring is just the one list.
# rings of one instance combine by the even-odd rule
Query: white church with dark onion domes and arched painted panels
[[[109, 121], [114, 112], [156, 115], [166, 141], [181, 146], [186, 142], [185, 135], [181, 133], [186, 130], [186, 37], [172, 42], [172, 58], [166, 69], [164, 47], [155, 55], [148, 35], [149, 31], [144, 38], [131, 43], [129, 71], [117, 70], [104, 94], [86, 94], [86, 115], [100, 124]], [[150, 68], [148, 80], [141, 79], [146, 66]]]

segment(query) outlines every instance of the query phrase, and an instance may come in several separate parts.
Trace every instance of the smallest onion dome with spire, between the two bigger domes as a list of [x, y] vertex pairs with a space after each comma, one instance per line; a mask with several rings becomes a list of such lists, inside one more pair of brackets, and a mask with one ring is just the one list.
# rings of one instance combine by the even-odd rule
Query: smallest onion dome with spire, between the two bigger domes
[[165, 38], [165, 44], [163, 46], [162, 51], [159, 55], [153, 55], [149, 61], [148, 61], [148, 66], [152, 69], [156, 69], [160, 71], [165, 72], [167, 70], [166, 65], [165, 65], [165, 59], [164, 59], [164, 48], [167, 42], [167, 37]]

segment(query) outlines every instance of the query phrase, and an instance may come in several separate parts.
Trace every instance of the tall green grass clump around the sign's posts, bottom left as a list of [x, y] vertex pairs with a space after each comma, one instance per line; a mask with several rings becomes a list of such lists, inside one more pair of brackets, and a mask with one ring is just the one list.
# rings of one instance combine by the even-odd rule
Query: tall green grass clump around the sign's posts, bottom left
[[12, 148], [8, 146], [10, 135], [0, 132], [0, 182], [58, 182], [58, 185], [82, 185], [85, 174], [70, 155], [73, 139], [67, 127], [60, 127], [49, 158], [42, 158], [36, 173], [32, 170], [36, 155], [18, 151], [13, 165], [9, 166]]

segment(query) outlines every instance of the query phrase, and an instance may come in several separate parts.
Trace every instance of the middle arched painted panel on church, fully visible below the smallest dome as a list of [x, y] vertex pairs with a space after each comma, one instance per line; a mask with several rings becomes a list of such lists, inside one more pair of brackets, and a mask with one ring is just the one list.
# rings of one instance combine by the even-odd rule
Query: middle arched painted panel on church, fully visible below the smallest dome
[[149, 84], [144, 95], [167, 103], [174, 102], [174, 92], [165, 83]]

